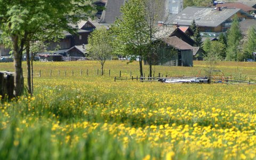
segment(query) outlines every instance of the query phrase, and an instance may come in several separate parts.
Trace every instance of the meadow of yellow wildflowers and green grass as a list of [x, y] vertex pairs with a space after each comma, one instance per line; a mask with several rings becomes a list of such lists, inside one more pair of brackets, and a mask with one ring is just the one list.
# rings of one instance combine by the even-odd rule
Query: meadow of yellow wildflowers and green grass
[[[205, 65], [194, 63], [154, 68], [195, 75]], [[34, 97], [0, 106], [0, 159], [256, 159], [256, 85], [114, 82], [119, 70], [139, 75], [138, 63], [107, 61], [110, 77], [97, 68], [95, 61], [36, 62], [42, 76]], [[246, 78], [256, 63], [218, 69]]]

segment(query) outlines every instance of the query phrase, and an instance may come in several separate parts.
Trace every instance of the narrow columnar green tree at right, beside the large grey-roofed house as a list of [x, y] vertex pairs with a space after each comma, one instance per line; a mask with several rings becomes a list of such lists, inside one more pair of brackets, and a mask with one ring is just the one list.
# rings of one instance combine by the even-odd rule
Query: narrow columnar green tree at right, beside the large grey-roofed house
[[239, 42], [242, 39], [242, 33], [239, 29], [239, 21], [237, 16], [233, 18], [231, 28], [228, 31], [227, 38], [227, 60], [236, 61], [239, 53]]

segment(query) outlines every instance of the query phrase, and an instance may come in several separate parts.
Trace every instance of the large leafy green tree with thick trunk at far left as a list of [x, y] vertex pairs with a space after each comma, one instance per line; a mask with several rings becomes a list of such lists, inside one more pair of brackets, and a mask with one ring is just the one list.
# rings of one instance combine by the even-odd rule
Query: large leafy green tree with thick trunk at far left
[[91, 0], [0, 0], [2, 38], [6, 40], [5, 44], [12, 44], [14, 55], [15, 97], [22, 94], [22, 52], [29, 52], [29, 42], [39, 37], [61, 34], [63, 30], [72, 30], [68, 23], [76, 23], [93, 13], [90, 3]]

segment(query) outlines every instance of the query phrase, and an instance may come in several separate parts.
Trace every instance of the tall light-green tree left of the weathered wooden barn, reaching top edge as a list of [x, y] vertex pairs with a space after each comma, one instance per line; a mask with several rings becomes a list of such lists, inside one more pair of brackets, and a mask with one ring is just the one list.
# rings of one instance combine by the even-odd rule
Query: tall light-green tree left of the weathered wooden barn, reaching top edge
[[142, 58], [147, 55], [150, 43], [149, 30], [145, 21], [144, 0], [130, 0], [121, 7], [121, 19], [115, 21], [115, 52], [139, 57], [140, 76], [143, 76]]

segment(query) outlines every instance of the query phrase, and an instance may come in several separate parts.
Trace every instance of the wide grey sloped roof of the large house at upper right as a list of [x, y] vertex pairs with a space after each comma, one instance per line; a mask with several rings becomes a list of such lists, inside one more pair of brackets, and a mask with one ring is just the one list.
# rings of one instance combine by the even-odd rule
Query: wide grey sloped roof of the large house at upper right
[[178, 22], [181, 26], [190, 26], [192, 21], [195, 20], [198, 26], [217, 27], [237, 12], [241, 12], [243, 14], [247, 14], [248, 17], [252, 17], [252, 15], [241, 9], [223, 8], [221, 11], [218, 11], [213, 7], [189, 6], [166, 23], [171, 25]]

